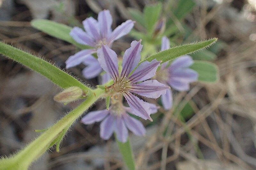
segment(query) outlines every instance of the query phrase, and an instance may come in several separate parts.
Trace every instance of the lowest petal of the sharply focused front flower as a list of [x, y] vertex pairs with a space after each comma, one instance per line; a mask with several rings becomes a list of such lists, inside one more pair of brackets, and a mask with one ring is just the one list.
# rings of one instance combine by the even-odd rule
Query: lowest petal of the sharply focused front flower
[[123, 95], [127, 100], [129, 106], [131, 107], [132, 114], [137, 115], [145, 120], [149, 119], [150, 121], [153, 121], [149, 116], [151, 113], [151, 109], [150, 105], [147, 102], [132, 95], [132, 93], [130, 92], [124, 92]]

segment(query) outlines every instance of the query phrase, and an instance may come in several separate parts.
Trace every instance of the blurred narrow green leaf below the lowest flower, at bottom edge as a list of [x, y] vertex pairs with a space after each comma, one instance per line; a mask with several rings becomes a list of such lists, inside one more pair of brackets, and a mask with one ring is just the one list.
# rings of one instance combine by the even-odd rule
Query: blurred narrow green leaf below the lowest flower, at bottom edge
[[[116, 134], [115, 134], [116, 137]], [[135, 170], [135, 161], [134, 161], [134, 156], [132, 152], [132, 147], [130, 144], [129, 138], [127, 139], [127, 142], [122, 143], [119, 142], [117, 137], [116, 137], [116, 142], [119, 147], [119, 151], [121, 152], [124, 162], [129, 170]]]

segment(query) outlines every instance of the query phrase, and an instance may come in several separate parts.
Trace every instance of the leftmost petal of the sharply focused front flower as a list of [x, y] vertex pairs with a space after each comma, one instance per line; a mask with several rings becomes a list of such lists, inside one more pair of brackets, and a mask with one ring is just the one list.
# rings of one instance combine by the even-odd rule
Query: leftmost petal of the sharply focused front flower
[[119, 73], [117, 55], [115, 51], [110, 49], [107, 45], [103, 45], [97, 50], [97, 55], [100, 66], [103, 68], [103, 70], [110, 74], [114, 82], [116, 82], [119, 77]]

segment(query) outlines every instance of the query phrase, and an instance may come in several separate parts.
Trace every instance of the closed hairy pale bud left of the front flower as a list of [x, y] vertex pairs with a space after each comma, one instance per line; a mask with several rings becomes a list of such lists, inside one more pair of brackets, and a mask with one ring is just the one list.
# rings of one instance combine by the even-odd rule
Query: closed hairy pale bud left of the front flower
[[79, 99], [83, 95], [82, 89], [79, 87], [68, 87], [54, 96], [54, 100], [60, 103], [69, 103]]

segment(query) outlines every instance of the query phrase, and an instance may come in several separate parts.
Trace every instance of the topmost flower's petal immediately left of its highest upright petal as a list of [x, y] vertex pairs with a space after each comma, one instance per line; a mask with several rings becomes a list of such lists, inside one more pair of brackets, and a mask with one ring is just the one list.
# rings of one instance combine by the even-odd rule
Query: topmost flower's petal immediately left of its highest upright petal
[[95, 41], [99, 41], [100, 38], [100, 29], [99, 23], [96, 19], [89, 17], [83, 21], [85, 31], [93, 38]]

